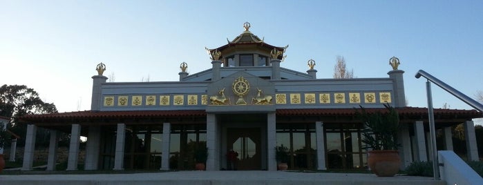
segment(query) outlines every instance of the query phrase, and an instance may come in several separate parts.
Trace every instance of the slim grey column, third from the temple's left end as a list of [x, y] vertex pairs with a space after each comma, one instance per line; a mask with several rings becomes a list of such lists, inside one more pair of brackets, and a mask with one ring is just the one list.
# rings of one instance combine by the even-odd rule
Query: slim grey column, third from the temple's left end
[[80, 130], [81, 126], [79, 124], [73, 124], [72, 130], [70, 130], [67, 171], [77, 171], [77, 164], [79, 163]]

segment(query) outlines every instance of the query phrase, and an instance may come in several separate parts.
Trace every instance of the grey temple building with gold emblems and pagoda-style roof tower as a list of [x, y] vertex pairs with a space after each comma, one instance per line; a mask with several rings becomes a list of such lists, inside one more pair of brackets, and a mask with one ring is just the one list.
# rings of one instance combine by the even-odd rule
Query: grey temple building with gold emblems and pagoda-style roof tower
[[[190, 75], [180, 64], [179, 81], [106, 82], [106, 66], [97, 65], [91, 110], [21, 117], [28, 124], [23, 170], [32, 169], [38, 127], [51, 130], [47, 170], [55, 169], [59, 132], [71, 136], [68, 171], [78, 170], [81, 136], [85, 170], [192, 170], [201, 147], [208, 171], [276, 171], [282, 145], [292, 170], [366, 169], [364, 124], [354, 108], [375, 112], [383, 104], [399, 113], [402, 166], [430, 160], [428, 109], [406, 106], [399, 59], [389, 59], [386, 77], [319, 79], [315, 61], [307, 61], [306, 72], [283, 68], [288, 46], [272, 46], [249, 23], [243, 27], [224, 46], [206, 48], [211, 68]], [[453, 150], [451, 126], [464, 123], [468, 159], [478, 159], [472, 119], [482, 114], [434, 114], [445, 138], [439, 149]]]

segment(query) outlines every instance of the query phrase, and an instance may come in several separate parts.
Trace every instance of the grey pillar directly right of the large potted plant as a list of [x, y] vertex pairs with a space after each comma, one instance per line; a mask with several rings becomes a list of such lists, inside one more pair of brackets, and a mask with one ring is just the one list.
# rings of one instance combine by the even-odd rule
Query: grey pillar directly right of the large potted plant
[[404, 170], [407, 166], [413, 162], [411, 155], [411, 139], [409, 135], [409, 128], [407, 124], [401, 124], [399, 133], [397, 134], [397, 140], [401, 144], [399, 147], [399, 156], [401, 156], [401, 170]]

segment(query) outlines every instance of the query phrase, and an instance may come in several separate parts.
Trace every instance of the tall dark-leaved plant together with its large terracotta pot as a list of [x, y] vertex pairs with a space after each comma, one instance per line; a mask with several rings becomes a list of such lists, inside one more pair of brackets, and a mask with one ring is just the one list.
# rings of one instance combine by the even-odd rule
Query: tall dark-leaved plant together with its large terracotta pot
[[399, 114], [389, 104], [384, 104], [386, 111], [368, 113], [361, 106], [357, 115], [364, 123], [362, 142], [368, 150], [368, 165], [379, 177], [392, 177], [399, 172], [401, 159], [397, 148], [397, 131], [399, 130]]

